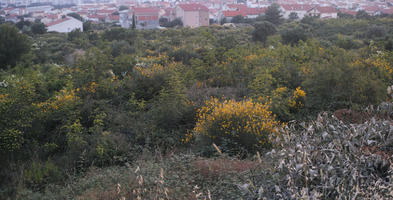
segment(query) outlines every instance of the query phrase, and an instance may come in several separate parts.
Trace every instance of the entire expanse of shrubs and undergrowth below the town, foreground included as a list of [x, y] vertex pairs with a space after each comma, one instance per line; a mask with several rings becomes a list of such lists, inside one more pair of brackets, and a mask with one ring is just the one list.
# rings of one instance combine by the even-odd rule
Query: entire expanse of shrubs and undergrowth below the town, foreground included
[[0, 198], [386, 196], [392, 19], [280, 23], [1, 25]]

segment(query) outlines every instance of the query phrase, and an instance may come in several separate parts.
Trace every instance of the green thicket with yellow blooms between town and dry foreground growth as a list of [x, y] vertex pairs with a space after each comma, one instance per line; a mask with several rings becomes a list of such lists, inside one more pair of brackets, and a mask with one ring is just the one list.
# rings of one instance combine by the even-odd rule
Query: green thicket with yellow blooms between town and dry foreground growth
[[[265, 141], [281, 123], [391, 101], [391, 22], [265, 22], [277, 32], [262, 40], [260, 24], [143, 31], [94, 25], [30, 36], [1, 25], [0, 198], [45, 194], [91, 167], [135, 166], [142, 152], [157, 149], [213, 156], [215, 142], [223, 154], [247, 157], [275, 146], [249, 145], [255, 138], [243, 143], [239, 135], [263, 132]], [[20, 49], [10, 57], [13, 40]], [[230, 128], [236, 131], [225, 134]], [[185, 144], [193, 131], [222, 140]]]

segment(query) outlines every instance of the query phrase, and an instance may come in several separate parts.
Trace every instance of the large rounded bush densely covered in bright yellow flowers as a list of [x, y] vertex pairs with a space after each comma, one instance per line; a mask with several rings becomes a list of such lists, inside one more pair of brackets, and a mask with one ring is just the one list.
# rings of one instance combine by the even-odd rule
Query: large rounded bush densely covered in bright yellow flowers
[[268, 147], [269, 136], [276, 134], [281, 125], [269, 109], [269, 104], [253, 99], [220, 102], [211, 98], [198, 111], [194, 135], [207, 136], [218, 145], [232, 145], [230, 148], [239, 147], [234, 145], [247, 150]]

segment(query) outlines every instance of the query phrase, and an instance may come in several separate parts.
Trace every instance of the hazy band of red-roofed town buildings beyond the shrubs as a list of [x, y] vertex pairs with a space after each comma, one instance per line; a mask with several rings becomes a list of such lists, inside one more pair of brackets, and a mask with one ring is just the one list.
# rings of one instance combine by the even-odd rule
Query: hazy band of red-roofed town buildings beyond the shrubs
[[[37, 20], [49, 31], [83, 30], [83, 21], [116, 23], [124, 28], [160, 28], [159, 20], [180, 19], [185, 27], [230, 22], [235, 16], [256, 18], [265, 14], [272, 2], [280, 5], [284, 18], [305, 16], [337, 18], [339, 12], [356, 15], [393, 14], [393, 0], [1, 0], [0, 16], [6, 21]], [[63, 5], [63, 6], [62, 6]], [[65, 6], [68, 5], [68, 6]], [[77, 13], [81, 19], [68, 16]]]

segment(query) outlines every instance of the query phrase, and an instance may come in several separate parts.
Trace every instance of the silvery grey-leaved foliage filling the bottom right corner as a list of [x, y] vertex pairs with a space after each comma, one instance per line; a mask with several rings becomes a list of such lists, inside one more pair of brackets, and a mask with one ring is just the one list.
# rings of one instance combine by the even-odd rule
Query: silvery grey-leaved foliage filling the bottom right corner
[[[391, 121], [371, 118], [344, 124], [328, 113], [310, 123], [289, 124], [277, 138], [281, 150], [271, 182], [260, 183], [269, 199], [393, 198]], [[261, 176], [268, 176], [262, 174]]]

